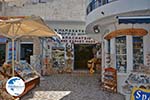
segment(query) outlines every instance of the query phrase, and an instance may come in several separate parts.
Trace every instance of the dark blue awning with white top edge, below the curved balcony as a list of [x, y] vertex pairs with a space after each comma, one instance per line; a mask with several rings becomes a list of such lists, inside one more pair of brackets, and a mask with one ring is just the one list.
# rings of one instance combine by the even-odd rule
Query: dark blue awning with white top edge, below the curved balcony
[[119, 24], [142, 24], [150, 23], [150, 16], [137, 16], [137, 17], [117, 17]]

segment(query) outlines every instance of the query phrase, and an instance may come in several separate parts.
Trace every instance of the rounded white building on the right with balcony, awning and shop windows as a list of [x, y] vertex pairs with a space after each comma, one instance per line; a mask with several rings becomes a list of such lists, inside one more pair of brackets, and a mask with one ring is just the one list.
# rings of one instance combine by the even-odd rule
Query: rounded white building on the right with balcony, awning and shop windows
[[117, 69], [118, 92], [127, 95], [126, 100], [130, 93], [125, 93], [123, 86], [130, 84], [128, 75], [140, 66], [150, 67], [149, 19], [149, 0], [87, 1], [86, 32], [101, 41], [102, 67]]

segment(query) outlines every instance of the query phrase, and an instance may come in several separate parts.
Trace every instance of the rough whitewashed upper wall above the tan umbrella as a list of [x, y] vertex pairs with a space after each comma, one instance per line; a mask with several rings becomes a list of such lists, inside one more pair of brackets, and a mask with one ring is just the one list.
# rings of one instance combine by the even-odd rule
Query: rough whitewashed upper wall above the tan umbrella
[[7, 7], [8, 16], [41, 16], [44, 20], [85, 21], [85, 0], [47, 0], [47, 3]]

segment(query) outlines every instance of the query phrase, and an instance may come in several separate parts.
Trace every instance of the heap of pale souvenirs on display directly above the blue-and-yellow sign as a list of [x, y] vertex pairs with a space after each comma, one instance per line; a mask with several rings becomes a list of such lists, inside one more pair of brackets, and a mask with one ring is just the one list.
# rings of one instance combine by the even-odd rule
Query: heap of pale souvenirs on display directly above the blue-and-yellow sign
[[123, 93], [131, 94], [133, 87], [150, 89], [150, 66], [139, 66], [139, 70], [131, 72], [122, 86]]

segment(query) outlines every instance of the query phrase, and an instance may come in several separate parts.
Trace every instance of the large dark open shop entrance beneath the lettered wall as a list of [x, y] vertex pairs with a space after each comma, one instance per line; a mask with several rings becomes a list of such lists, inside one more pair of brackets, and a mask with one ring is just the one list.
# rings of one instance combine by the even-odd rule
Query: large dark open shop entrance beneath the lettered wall
[[94, 57], [95, 44], [74, 44], [74, 70], [88, 70], [87, 62]]

